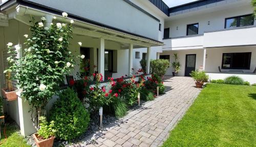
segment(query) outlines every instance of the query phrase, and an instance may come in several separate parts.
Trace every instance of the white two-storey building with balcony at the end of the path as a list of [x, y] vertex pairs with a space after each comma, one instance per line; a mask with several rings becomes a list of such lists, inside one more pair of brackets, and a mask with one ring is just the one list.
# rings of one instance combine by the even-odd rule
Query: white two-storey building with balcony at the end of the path
[[236, 75], [256, 83], [256, 23], [250, 2], [204, 0], [169, 8], [160, 58], [173, 62], [177, 53], [179, 76], [203, 69], [210, 79]]

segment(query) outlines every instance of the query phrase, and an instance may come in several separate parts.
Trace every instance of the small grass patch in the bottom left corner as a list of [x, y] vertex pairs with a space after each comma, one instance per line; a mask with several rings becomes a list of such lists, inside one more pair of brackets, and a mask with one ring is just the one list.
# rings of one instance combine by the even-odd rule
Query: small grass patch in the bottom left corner
[[[4, 135], [4, 126], [2, 126], [1, 128], [1, 142], [4, 141], [5, 139], [5, 135]], [[0, 146], [2, 147], [27, 147], [27, 146], [30, 146], [30, 145], [27, 145], [26, 141], [24, 140], [24, 138], [22, 136], [20, 136], [18, 134], [18, 131], [19, 131], [19, 128], [18, 126], [12, 122], [11, 124], [10, 123], [7, 123], [7, 126], [6, 126], [6, 135], [7, 135], [7, 140], [1, 144]]]

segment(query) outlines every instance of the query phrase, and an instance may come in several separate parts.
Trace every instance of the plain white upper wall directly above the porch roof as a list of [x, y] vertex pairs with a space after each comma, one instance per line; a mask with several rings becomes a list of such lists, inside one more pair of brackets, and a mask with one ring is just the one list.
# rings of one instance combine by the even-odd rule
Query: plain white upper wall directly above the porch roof
[[[120, 0], [30, 0], [60, 11], [97, 21], [114, 28], [158, 39], [158, 24], [132, 5]], [[68, 6], [68, 7], [67, 7]]]

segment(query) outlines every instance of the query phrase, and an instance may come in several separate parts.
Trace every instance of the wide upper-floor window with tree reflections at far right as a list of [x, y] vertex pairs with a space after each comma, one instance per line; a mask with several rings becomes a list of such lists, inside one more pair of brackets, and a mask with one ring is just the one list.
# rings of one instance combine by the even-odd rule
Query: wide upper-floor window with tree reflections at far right
[[225, 29], [251, 26], [253, 25], [253, 23], [254, 23], [254, 17], [252, 16], [252, 14], [226, 18]]

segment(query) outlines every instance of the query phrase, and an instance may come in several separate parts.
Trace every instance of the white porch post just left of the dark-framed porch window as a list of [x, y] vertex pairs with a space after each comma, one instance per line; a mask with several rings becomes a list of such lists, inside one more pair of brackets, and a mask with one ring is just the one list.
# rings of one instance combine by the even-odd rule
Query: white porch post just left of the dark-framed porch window
[[104, 38], [100, 38], [100, 44], [99, 44], [99, 67], [98, 67], [98, 71], [99, 74], [102, 74], [103, 79], [104, 79], [104, 72], [105, 72], [105, 67], [104, 67], [104, 54], [105, 54], [105, 39]]

